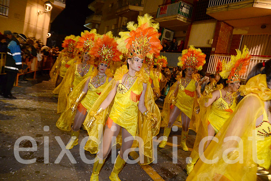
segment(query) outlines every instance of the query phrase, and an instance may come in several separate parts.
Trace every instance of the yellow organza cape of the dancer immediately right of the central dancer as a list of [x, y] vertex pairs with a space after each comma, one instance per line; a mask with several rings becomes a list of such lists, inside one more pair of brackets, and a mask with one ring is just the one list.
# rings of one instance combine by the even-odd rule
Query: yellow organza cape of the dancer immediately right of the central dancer
[[[176, 82], [170, 87], [170, 90], [167, 93], [167, 96], [165, 98], [164, 101], [164, 105], [163, 105], [163, 111], [161, 112], [161, 127], [167, 127], [168, 126], [168, 122], [169, 122], [169, 115], [170, 115], [170, 105], [172, 104], [169, 101], [170, 95], [173, 94], [174, 90], [176, 89], [177, 85], [178, 85], [178, 81], [180, 82], [181, 80], [181, 76], [177, 76], [176, 77]], [[198, 101], [197, 101], [197, 94], [195, 94], [194, 96], [194, 103], [193, 103], [193, 113], [192, 113], [192, 118], [189, 124], [189, 128], [194, 130], [195, 132], [198, 131], [198, 127], [200, 124], [200, 119], [199, 119], [199, 115], [195, 114], [195, 108], [198, 106]], [[181, 121], [181, 114], [177, 117], [176, 121]]]

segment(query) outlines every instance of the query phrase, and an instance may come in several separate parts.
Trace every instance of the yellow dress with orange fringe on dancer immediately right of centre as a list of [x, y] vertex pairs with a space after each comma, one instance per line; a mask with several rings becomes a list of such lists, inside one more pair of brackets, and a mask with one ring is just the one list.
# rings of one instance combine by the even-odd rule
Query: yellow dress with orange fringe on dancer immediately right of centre
[[195, 95], [195, 86], [196, 81], [194, 79], [191, 79], [191, 81], [188, 83], [186, 87], [184, 87], [180, 84], [178, 87], [178, 94], [177, 94], [177, 103], [175, 106], [177, 106], [185, 115], [188, 116], [188, 118], [191, 119], [192, 112], [193, 112], [193, 104], [194, 104], [194, 95]]

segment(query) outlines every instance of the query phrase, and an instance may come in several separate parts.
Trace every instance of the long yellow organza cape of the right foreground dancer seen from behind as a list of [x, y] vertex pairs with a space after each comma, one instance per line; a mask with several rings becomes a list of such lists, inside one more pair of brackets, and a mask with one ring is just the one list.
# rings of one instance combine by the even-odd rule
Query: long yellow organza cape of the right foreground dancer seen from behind
[[[265, 75], [260, 74], [252, 77], [246, 85], [241, 86], [240, 91], [241, 95], [245, 95], [245, 97], [238, 103], [235, 112], [216, 134], [214, 139], [217, 142], [213, 139], [204, 151], [205, 158], [214, 159], [215, 163], [208, 164], [207, 160], [199, 159], [186, 181], [256, 181], [257, 164], [253, 161], [255, 153], [253, 154], [252, 151], [253, 142], [249, 139], [255, 130], [256, 119], [263, 114], [264, 101], [271, 99], [271, 90], [267, 87]], [[253, 136], [255, 137], [256, 134]], [[257, 146], [257, 150], [261, 152], [262, 149], [265, 149], [269, 152], [269, 155], [257, 152], [258, 159], [265, 159], [264, 163], [260, 165], [268, 169], [271, 137], [265, 137], [263, 141], [257, 141], [257, 144], [262, 146]], [[203, 157], [201, 156], [201, 158]], [[229, 162], [235, 159], [237, 159], [236, 163]]]

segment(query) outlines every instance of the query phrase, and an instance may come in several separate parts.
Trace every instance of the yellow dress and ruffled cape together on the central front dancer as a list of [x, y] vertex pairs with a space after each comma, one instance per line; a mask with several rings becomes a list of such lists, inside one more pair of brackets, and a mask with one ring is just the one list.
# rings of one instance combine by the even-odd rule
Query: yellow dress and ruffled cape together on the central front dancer
[[[141, 69], [136, 73], [137, 79], [132, 87], [127, 90], [122, 84], [121, 80], [123, 75], [128, 72], [127, 66], [123, 65], [117, 69], [114, 78], [107, 84], [102, 91], [100, 97], [95, 101], [92, 108], [89, 110], [88, 115], [84, 121], [84, 126], [89, 133], [89, 140], [87, 141], [84, 149], [91, 153], [97, 153], [99, 150], [98, 144], [101, 142], [99, 138], [103, 133], [103, 129], [107, 124], [111, 126], [112, 122], [124, 127], [132, 136], [142, 138], [143, 145], [138, 141], [134, 141], [132, 147], [139, 147], [140, 154], [144, 155], [144, 164], [151, 163], [153, 158], [153, 141], [152, 139], [159, 133], [160, 130], [160, 111], [158, 106], [154, 103], [153, 93], [151, 86], [147, 84], [145, 92], [145, 106], [149, 112], [154, 113], [157, 117], [157, 125], [152, 127], [151, 121], [147, 120], [138, 109], [139, 98], [142, 94], [143, 83], [148, 82], [148, 76]], [[94, 113], [109, 92], [117, 86], [117, 93], [111, 105], [108, 106], [92, 123], [92, 127], [87, 127], [90, 113]], [[108, 113], [109, 116], [108, 116]], [[116, 142], [121, 144], [121, 133], [117, 136]]]

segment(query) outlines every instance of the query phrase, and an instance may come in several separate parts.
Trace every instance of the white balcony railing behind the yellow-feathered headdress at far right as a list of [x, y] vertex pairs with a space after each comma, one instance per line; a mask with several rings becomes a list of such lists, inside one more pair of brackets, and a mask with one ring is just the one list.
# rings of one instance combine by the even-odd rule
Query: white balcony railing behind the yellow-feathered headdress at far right
[[[207, 73], [210, 74], [215, 74], [216, 73], [216, 64], [217, 61], [220, 60], [222, 61], [223, 59], [225, 59], [227, 62], [229, 62], [231, 60], [231, 56], [230, 55], [222, 55], [222, 54], [213, 54], [210, 55], [210, 60], [209, 60], [209, 64], [208, 64], [208, 68], [207, 68]], [[259, 56], [253, 56], [251, 58], [250, 64], [247, 67], [247, 71], [244, 75], [241, 75], [240, 78], [241, 79], [246, 79], [248, 76], [248, 73], [251, 71], [251, 69], [260, 62], [265, 62], [267, 60], [270, 59], [269, 57], [259, 57]]]

